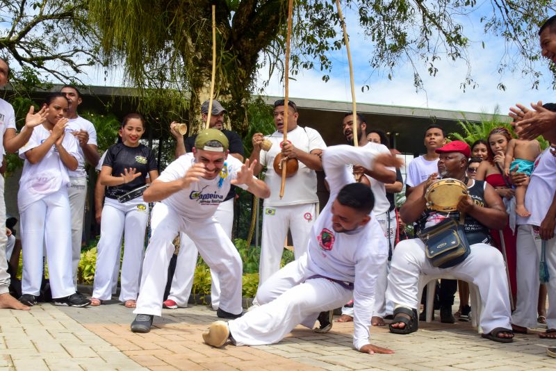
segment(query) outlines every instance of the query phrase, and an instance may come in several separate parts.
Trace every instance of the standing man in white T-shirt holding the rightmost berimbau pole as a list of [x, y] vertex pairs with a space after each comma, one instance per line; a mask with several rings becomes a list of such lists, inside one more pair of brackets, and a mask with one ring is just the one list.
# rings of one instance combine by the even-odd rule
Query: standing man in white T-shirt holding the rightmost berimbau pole
[[[390, 150], [384, 146], [377, 143], [369, 142], [367, 140], [367, 122], [363, 115], [357, 113], [357, 139], [359, 147], [374, 147], [379, 153], [390, 154]], [[348, 143], [353, 145], [353, 113], [347, 113], [343, 118], [342, 131], [345, 135], [345, 139]], [[386, 198], [386, 187], [384, 183], [395, 182], [395, 167], [390, 167], [385, 169], [384, 172], [370, 171], [360, 164], [353, 164], [354, 174], [359, 174], [361, 178], [359, 181], [361, 183], [370, 186], [370, 190], [373, 191], [375, 196], [375, 206], [373, 207], [373, 215], [379, 223], [384, 236], [386, 238], [393, 239], [391, 233], [389, 233], [389, 209], [390, 202]], [[380, 274], [377, 276], [377, 289], [375, 290], [375, 308], [373, 311], [373, 317], [370, 322], [373, 326], [384, 326], [384, 316], [386, 316], [386, 286], [388, 286], [387, 279], [387, 264], [381, 268]], [[353, 306], [343, 306], [342, 315], [338, 318], [338, 322], [350, 322], [353, 320]]]

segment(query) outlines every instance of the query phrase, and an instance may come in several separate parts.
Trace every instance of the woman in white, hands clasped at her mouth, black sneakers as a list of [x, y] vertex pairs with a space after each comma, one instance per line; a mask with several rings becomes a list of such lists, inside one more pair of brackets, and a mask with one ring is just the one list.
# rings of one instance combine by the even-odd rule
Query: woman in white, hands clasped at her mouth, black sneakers
[[47, 250], [50, 288], [54, 304], [87, 306], [75, 292], [72, 279], [72, 231], [67, 170], [76, 170], [77, 140], [65, 135], [67, 108], [64, 94], [47, 95], [46, 120], [36, 126], [31, 138], [19, 149], [25, 160], [19, 179], [17, 205], [21, 215], [23, 249], [22, 296], [19, 301], [36, 304], [42, 281], [43, 241]]

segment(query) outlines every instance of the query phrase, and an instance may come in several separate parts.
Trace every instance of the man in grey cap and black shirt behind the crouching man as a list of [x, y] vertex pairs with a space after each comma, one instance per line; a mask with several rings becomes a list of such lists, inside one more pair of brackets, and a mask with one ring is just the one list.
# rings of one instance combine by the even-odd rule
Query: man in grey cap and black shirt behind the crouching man
[[[208, 101], [204, 101], [201, 105], [202, 121], [206, 122], [208, 117]], [[208, 126], [211, 129], [218, 129], [222, 131], [229, 143], [229, 156], [234, 156], [243, 162], [243, 142], [235, 131], [224, 129], [224, 114], [227, 110], [222, 107], [219, 101], [213, 100], [213, 108], [211, 112], [211, 122]], [[191, 135], [185, 140], [183, 135], [175, 130], [177, 123], [170, 124], [170, 133], [176, 138], [176, 158], [186, 154], [186, 152], [193, 151], [195, 147], [195, 139], [197, 135]], [[231, 229], [234, 225], [234, 197], [236, 197], [236, 190], [234, 186], [230, 190], [224, 201], [218, 205], [214, 213], [214, 217], [226, 232], [228, 238], [231, 239]], [[163, 302], [163, 307], [168, 309], [176, 309], [178, 307], [186, 307], [191, 288], [193, 287], [193, 277], [195, 276], [195, 267], [197, 265], [197, 247], [193, 241], [185, 234], [179, 235], [180, 245], [179, 253], [177, 256], [176, 270], [174, 277], [172, 277], [172, 287], [168, 298]], [[211, 307], [214, 311], [218, 311], [218, 304], [220, 303], [220, 280], [216, 274], [211, 271]]]

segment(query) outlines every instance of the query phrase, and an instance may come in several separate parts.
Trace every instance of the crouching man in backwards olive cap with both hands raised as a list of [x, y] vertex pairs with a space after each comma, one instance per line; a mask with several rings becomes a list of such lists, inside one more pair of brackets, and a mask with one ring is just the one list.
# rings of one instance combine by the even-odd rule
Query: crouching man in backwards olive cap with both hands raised
[[228, 140], [216, 129], [201, 131], [193, 154], [180, 156], [152, 183], [143, 199], [161, 201], [152, 209], [152, 235], [143, 261], [136, 319], [133, 332], [149, 332], [154, 315], [161, 315], [167, 281], [167, 266], [174, 254], [172, 240], [186, 233], [199, 254], [222, 282], [220, 318], [241, 315], [242, 263], [236, 247], [213, 217], [228, 194], [230, 185], [238, 186], [260, 198], [270, 196], [263, 181], [253, 176], [254, 161], [245, 165], [228, 156]]

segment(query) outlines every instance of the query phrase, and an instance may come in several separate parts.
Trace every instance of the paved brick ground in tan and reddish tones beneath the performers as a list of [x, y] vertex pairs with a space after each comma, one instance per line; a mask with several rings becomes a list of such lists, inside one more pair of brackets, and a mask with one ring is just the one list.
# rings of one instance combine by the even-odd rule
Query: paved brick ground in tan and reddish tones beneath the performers
[[373, 327], [373, 343], [392, 355], [352, 349], [352, 324], [331, 333], [301, 327], [276, 345], [215, 349], [201, 333], [216, 319], [204, 306], [164, 311], [153, 331], [129, 331], [134, 315], [117, 302], [95, 308], [42, 304], [0, 311], [0, 368], [17, 370], [555, 370], [537, 332], [512, 344], [481, 338], [469, 324], [423, 324], [409, 336]]

